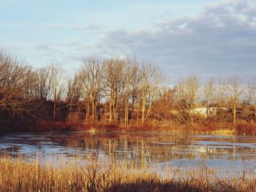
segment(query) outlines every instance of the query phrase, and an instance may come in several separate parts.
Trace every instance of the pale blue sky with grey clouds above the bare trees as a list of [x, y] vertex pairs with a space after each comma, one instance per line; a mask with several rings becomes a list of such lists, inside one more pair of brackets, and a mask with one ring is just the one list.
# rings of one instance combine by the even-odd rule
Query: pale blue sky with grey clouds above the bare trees
[[0, 0], [0, 48], [34, 67], [129, 55], [170, 81], [256, 77], [256, 0]]

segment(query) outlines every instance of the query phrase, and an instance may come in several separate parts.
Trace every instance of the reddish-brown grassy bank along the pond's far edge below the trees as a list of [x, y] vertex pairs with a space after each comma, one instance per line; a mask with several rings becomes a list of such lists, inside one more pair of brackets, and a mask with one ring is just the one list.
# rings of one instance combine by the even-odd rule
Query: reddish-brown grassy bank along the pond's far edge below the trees
[[0, 134], [18, 133], [18, 132], [45, 132], [45, 131], [122, 131], [122, 132], [167, 132], [167, 133], [193, 133], [193, 134], [229, 134], [256, 135], [256, 124], [246, 121], [239, 121], [236, 126], [232, 122], [203, 122], [194, 124], [176, 124], [168, 122], [159, 124], [156, 122], [148, 122], [137, 126], [131, 124], [124, 127], [118, 123], [77, 123], [77, 122], [61, 122], [61, 121], [42, 121], [35, 124], [20, 126], [14, 128], [10, 125], [1, 125]]

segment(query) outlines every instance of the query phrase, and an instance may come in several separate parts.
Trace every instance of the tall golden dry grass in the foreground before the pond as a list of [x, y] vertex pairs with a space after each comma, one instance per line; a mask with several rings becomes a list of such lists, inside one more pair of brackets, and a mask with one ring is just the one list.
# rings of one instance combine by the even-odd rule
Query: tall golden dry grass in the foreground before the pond
[[185, 172], [170, 167], [160, 175], [134, 163], [102, 162], [95, 155], [83, 165], [40, 161], [1, 155], [0, 191], [254, 191], [256, 186], [254, 174], [220, 179], [203, 164]]

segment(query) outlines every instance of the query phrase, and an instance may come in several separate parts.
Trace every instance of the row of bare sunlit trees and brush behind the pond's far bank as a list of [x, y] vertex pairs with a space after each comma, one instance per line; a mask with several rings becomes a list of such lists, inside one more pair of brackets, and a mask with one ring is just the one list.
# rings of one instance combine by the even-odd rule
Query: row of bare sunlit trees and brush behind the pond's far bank
[[135, 58], [85, 58], [67, 77], [59, 61], [35, 69], [0, 52], [0, 125], [72, 121], [142, 125], [256, 120], [256, 79], [197, 75], [165, 85], [159, 67]]

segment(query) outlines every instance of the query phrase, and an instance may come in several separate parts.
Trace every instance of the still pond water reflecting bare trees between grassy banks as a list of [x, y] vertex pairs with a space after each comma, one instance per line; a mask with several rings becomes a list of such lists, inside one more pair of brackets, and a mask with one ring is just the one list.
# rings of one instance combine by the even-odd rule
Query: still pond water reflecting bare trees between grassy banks
[[193, 169], [202, 162], [222, 172], [241, 172], [256, 165], [256, 137], [206, 134], [158, 133], [39, 133], [0, 136], [0, 150], [27, 158], [37, 155], [84, 158], [97, 153], [99, 158], [132, 161], [151, 167], [181, 166]]

